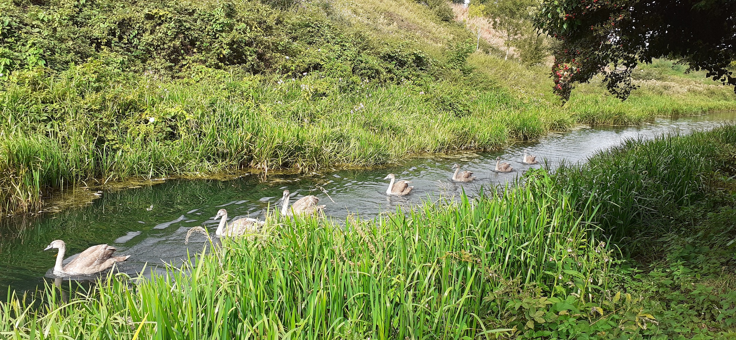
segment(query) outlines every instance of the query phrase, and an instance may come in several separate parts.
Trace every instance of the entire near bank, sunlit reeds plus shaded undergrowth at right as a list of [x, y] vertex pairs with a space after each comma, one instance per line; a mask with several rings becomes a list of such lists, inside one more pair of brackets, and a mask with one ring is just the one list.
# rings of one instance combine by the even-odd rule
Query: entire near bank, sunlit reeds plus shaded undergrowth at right
[[166, 279], [130, 286], [110, 277], [70, 302], [50, 289], [38, 310], [10, 299], [0, 332], [729, 339], [734, 143], [732, 126], [630, 141], [470, 202], [356, 216], [344, 227], [273, 220], [265, 234], [224, 240]]

